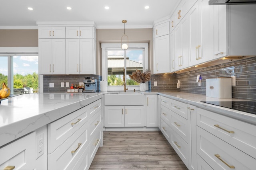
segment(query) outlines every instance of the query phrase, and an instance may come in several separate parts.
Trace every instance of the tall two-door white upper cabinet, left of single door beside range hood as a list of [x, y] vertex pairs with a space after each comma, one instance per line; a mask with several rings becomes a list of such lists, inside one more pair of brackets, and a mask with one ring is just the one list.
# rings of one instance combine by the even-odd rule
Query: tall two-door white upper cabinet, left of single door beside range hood
[[190, 19], [189, 66], [214, 59], [213, 6], [198, 0], [188, 12]]

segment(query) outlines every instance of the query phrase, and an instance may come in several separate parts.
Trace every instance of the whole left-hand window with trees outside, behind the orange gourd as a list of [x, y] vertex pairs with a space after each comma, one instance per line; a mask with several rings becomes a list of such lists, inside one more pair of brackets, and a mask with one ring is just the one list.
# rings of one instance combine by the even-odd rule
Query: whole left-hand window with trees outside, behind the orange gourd
[[38, 56], [0, 56], [0, 89], [3, 82], [11, 94], [38, 92]]

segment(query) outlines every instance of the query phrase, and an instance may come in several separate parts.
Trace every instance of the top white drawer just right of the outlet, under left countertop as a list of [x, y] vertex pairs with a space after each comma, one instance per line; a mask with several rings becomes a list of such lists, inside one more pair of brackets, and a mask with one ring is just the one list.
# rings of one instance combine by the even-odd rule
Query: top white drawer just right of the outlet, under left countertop
[[47, 125], [48, 153], [52, 153], [89, 120], [89, 108], [88, 106], [82, 107]]

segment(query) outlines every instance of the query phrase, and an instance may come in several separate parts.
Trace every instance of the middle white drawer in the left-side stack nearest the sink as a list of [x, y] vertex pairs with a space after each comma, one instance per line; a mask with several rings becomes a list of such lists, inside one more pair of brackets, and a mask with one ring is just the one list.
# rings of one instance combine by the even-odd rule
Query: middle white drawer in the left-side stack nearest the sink
[[90, 119], [89, 121], [89, 140], [90, 142], [93, 139], [95, 133], [102, 130], [102, 123], [101, 123], [101, 110]]

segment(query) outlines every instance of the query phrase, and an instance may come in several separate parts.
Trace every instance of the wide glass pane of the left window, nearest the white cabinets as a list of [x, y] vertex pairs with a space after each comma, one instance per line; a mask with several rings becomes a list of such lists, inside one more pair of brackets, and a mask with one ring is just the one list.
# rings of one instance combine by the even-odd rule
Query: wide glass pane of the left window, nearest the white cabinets
[[13, 57], [13, 88], [23, 89], [25, 93], [37, 92], [38, 56]]

